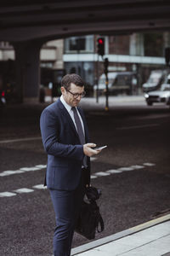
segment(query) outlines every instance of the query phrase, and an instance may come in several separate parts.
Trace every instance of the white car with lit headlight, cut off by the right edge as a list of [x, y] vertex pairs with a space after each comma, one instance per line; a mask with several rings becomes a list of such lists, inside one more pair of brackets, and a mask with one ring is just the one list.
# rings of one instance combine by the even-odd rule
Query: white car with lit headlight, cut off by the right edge
[[161, 84], [161, 90], [145, 93], [144, 97], [149, 106], [159, 102], [164, 102], [165, 104], [170, 105], [170, 75], [167, 76], [167, 84]]

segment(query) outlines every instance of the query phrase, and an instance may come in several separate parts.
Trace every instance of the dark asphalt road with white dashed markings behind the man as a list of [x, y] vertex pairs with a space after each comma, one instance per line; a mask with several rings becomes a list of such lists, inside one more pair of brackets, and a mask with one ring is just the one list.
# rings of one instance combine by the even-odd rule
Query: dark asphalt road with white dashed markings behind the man
[[[144, 223], [170, 208], [170, 109], [141, 97], [83, 99], [91, 141], [107, 145], [92, 159], [92, 184], [105, 231], [96, 239]], [[43, 177], [39, 116], [45, 105], [8, 106], [0, 125], [0, 255], [52, 255], [54, 210]], [[88, 240], [75, 234], [73, 247]]]

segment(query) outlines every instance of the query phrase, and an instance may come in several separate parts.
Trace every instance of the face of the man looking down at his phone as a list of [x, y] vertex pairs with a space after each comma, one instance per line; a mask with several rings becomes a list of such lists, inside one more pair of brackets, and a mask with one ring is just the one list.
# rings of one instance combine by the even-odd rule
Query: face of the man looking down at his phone
[[75, 97], [71, 93], [81, 94], [83, 91], [84, 91], [84, 86], [80, 87], [72, 83], [69, 91], [65, 90], [64, 87], [61, 87], [61, 93], [65, 99], [65, 102], [69, 104], [71, 107], [77, 107], [78, 103], [81, 101], [81, 98], [82, 98], [81, 96]]

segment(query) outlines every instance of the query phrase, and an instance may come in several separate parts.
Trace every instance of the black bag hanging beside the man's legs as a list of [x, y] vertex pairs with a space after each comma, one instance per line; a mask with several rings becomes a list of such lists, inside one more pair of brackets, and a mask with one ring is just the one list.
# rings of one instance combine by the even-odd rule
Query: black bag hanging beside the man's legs
[[96, 203], [100, 194], [98, 189], [88, 187], [86, 191], [88, 202], [82, 201], [81, 212], [77, 219], [75, 230], [89, 240], [95, 238], [96, 231], [102, 232], [104, 230], [104, 221]]

